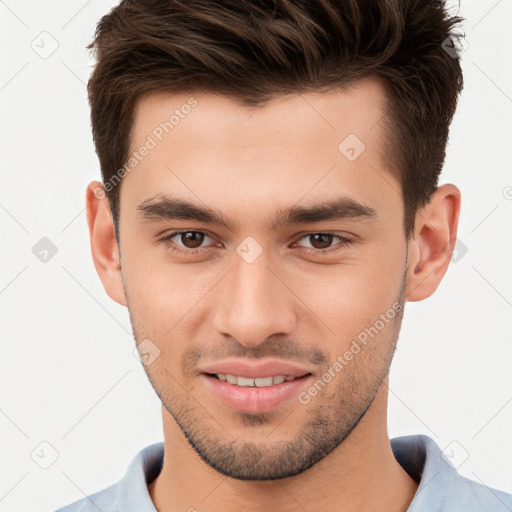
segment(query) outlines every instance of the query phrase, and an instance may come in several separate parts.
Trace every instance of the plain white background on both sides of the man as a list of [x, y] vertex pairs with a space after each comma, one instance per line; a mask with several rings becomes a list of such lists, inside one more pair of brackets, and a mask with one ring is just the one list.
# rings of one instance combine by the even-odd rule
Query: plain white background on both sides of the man
[[[84, 210], [87, 183], [100, 179], [85, 46], [115, 3], [0, 1], [1, 511], [52, 511], [101, 490], [162, 440], [159, 401], [132, 353], [128, 312], [95, 272]], [[389, 434], [456, 441], [463, 475], [512, 493], [512, 0], [464, 0], [460, 14], [465, 89], [440, 182], [462, 191], [467, 252], [431, 298], [406, 306]], [[58, 44], [46, 59], [31, 47], [41, 38], [46, 51]], [[58, 249], [47, 263], [32, 253], [42, 237]], [[58, 453], [48, 469], [31, 457], [51, 457], [43, 441]]]

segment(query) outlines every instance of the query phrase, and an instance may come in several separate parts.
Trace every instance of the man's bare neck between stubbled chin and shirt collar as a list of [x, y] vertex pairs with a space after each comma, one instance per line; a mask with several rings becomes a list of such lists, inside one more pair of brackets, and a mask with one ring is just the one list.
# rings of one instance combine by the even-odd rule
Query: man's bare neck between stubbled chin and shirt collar
[[164, 462], [149, 486], [158, 512], [343, 512], [408, 509], [418, 488], [398, 464], [386, 428], [387, 384], [350, 435], [308, 470], [271, 481], [236, 480], [206, 464], [163, 411]]

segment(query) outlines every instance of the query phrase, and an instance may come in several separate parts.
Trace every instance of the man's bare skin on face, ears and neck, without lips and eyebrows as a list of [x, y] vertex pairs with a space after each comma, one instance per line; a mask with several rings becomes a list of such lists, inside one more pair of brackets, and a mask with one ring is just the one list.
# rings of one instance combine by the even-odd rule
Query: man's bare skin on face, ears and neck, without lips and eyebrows
[[[213, 94], [149, 96], [133, 149], [190, 97], [197, 106], [123, 178], [120, 248], [101, 184], [87, 189], [105, 290], [128, 307], [137, 344], [150, 339], [160, 351], [145, 366], [162, 401], [164, 465], [149, 485], [157, 510], [406, 510], [417, 483], [389, 444], [389, 365], [403, 304], [429, 297], [446, 272], [460, 191], [439, 187], [406, 240], [400, 184], [381, 158], [376, 79], [261, 109]], [[349, 134], [365, 144], [354, 161], [338, 149]], [[219, 210], [236, 226], [144, 219], [138, 205], [159, 194]], [[280, 209], [340, 196], [376, 215], [268, 228]], [[175, 230], [205, 236], [162, 240]], [[306, 236], [323, 232], [351, 242]], [[237, 252], [248, 236], [262, 250], [251, 263]], [[307, 391], [394, 304], [399, 313], [307, 404], [243, 413], [200, 375], [200, 365], [227, 358], [291, 361], [312, 373]]]

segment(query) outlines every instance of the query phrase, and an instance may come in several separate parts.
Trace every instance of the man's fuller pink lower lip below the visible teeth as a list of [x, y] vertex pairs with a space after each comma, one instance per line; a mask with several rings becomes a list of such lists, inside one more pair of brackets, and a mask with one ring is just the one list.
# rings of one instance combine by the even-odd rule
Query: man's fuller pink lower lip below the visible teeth
[[229, 382], [217, 379], [205, 373], [201, 378], [205, 385], [225, 405], [232, 409], [253, 414], [269, 412], [277, 406], [298, 395], [311, 375], [305, 375], [295, 380], [284, 381], [281, 384], [272, 386], [238, 386]]

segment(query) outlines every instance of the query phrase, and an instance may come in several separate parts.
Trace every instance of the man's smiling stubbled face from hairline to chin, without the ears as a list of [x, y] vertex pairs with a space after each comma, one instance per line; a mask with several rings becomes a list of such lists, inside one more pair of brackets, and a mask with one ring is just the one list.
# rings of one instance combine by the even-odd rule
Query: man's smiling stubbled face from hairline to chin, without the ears
[[[401, 187], [381, 156], [384, 92], [367, 79], [256, 110], [193, 98], [182, 109], [186, 95], [151, 96], [135, 117], [132, 151], [156, 143], [121, 185], [136, 342], [151, 359], [159, 351], [149, 379], [204, 461], [234, 478], [291, 476], [358, 424], [398, 338], [407, 243]], [[176, 109], [174, 128], [158, 130]], [[173, 218], [166, 199], [227, 225]], [[282, 213], [334, 201], [338, 218]], [[268, 386], [272, 375], [296, 378]]]

